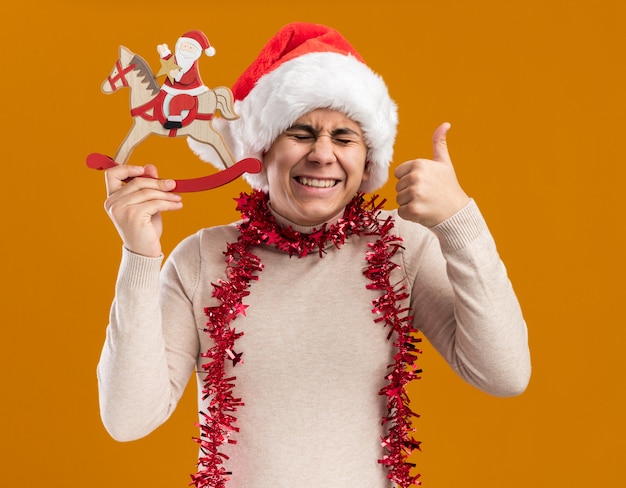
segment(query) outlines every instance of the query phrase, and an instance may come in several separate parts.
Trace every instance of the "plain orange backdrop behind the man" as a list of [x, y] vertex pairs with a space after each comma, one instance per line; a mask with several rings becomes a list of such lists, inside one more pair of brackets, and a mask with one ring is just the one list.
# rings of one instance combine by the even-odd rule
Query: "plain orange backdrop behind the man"
[[[534, 371], [518, 398], [467, 386], [425, 347], [411, 389], [424, 486], [623, 483], [622, 0], [61, 0], [3, 10], [0, 486], [187, 485], [193, 388], [137, 442], [111, 440], [99, 419], [95, 367], [120, 242], [102, 210], [102, 175], [84, 160], [114, 153], [131, 122], [128, 93], [99, 86], [119, 44], [158, 69], [156, 45], [194, 28], [217, 49], [201, 63], [205, 82], [231, 85], [294, 20], [338, 28], [385, 77], [400, 107], [396, 163], [429, 157], [433, 129], [452, 123], [459, 178], [528, 321]], [[131, 162], [166, 176], [208, 172], [183, 140], [149, 139]], [[165, 219], [166, 250], [236, 218], [231, 197], [246, 188], [186, 196]], [[393, 182], [382, 193], [393, 202]]]

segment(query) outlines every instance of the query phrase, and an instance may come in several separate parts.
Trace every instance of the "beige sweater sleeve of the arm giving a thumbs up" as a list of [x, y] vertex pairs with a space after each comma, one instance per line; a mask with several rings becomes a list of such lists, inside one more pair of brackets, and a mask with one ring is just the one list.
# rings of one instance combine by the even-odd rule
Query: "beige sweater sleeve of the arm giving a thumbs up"
[[470, 384], [522, 393], [531, 369], [526, 323], [476, 203], [430, 230], [436, 238], [405, 263], [414, 268], [416, 326]]

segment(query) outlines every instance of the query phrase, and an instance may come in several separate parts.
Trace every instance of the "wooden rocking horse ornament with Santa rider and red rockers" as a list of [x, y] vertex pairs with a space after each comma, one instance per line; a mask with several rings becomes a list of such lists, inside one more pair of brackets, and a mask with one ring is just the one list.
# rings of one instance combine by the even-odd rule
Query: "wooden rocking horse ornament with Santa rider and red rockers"
[[[243, 173], [261, 171], [261, 162], [257, 159], [245, 158], [235, 162], [221, 134], [213, 127], [212, 119], [218, 109], [226, 120], [237, 119], [238, 115], [230, 88], [210, 89], [200, 77], [198, 61], [202, 55], [215, 55], [215, 48], [204, 33], [198, 30], [187, 32], [176, 42], [174, 53], [167, 44], [157, 46], [157, 51], [161, 69], [154, 75], [141, 56], [120, 46], [119, 58], [102, 83], [102, 91], [111, 94], [120, 88], [129, 88], [130, 114], [134, 122], [114, 158], [92, 153], [87, 157], [87, 166], [107, 169], [125, 164], [138, 144], [156, 134], [186, 136], [208, 144], [226, 168], [201, 178], [176, 180], [176, 192], [208, 190], [233, 181]], [[163, 75], [166, 79], [160, 85], [157, 78]], [[218, 161], [212, 164], [221, 166]]]

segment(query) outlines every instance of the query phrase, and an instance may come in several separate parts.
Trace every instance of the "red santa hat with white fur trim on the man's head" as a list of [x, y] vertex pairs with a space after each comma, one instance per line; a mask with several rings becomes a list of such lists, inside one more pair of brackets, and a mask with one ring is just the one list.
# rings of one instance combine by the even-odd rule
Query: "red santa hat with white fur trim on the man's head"
[[[263, 153], [306, 113], [328, 108], [359, 123], [368, 147], [371, 177], [361, 191], [387, 181], [396, 136], [397, 108], [382, 78], [336, 30], [292, 23], [261, 50], [232, 88], [239, 119], [214, 119], [236, 160]], [[215, 163], [215, 151], [188, 140], [203, 160]], [[267, 191], [265, 171], [246, 174], [253, 188]]]

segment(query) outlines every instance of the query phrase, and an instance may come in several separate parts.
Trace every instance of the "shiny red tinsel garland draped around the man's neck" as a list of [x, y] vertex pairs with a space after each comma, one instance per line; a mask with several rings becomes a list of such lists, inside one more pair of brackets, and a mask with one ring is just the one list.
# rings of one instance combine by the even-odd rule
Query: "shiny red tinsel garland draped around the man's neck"
[[234, 437], [239, 428], [235, 413], [244, 403], [233, 395], [236, 377], [227, 376], [226, 364], [232, 361], [234, 368], [244, 362], [243, 352], [237, 352], [235, 348], [243, 333], [237, 332], [231, 322], [238, 315], [245, 315], [247, 305], [243, 302], [250, 294], [248, 288], [263, 270], [261, 260], [251, 252], [252, 249], [267, 245], [289, 256], [303, 258], [317, 252], [322, 258], [329, 246], [340, 248], [350, 236], [361, 235], [376, 237], [368, 243], [363, 270], [370, 280], [366, 288], [379, 292], [378, 298], [372, 301], [373, 321], [389, 329], [387, 338], [396, 348], [394, 363], [389, 365], [386, 376], [387, 385], [379, 392], [387, 399], [387, 413], [382, 418], [384, 453], [379, 463], [387, 468], [387, 477], [400, 488], [420, 485], [419, 474], [411, 473], [415, 465], [407, 460], [415, 449], [419, 449], [419, 442], [412, 438], [415, 430], [412, 420], [417, 415], [409, 408], [406, 392], [407, 384], [419, 378], [421, 373], [415, 366], [417, 354], [421, 352], [416, 346], [420, 339], [412, 325], [411, 310], [402, 307], [402, 301], [409, 296], [406, 286], [394, 285], [390, 281], [391, 272], [398, 268], [391, 258], [401, 249], [402, 239], [391, 232], [394, 226], [391, 217], [379, 218], [384, 201], [377, 203], [376, 196], [365, 201], [364, 196], [358, 194], [346, 206], [341, 219], [310, 234], [278, 226], [265, 193], [242, 193], [236, 201], [243, 220], [238, 224], [237, 241], [228, 243], [224, 253], [227, 280], [213, 284], [213, 297], [220, 304], [205, 309], [208, 317], [205, 332], [211, 336], [214, 345], [202, 354], [208, 360], [202, 365], [206, 372], [202, 399], [209, 399], [209, 404], [206, 411], [200, 412], [204, 422], [198, 425], [200, 437], [195, 440], [200, 444], [201, 456], [198, 472], [191, 475], [191, 484], [196, 488], [225, 488], [231, 475], [224, 467], [227, 456], [220, 449], [225, 443], [237, 443]]

